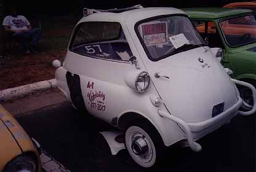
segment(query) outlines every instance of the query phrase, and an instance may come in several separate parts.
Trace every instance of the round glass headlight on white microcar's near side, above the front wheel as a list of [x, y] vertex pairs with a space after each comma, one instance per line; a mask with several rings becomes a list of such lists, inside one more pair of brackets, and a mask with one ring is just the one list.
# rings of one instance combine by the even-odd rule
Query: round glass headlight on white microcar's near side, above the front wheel
[[150, 85], [150, 75], [148, 72], [140, 72], [135, 79], [135, 88], [139, 93], [145, 92], [146, 88]]

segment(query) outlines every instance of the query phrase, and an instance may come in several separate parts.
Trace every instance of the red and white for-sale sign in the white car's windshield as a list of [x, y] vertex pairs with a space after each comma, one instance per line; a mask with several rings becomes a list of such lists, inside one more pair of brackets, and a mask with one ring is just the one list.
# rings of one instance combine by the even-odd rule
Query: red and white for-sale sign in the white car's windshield
[[142, 24], [142, 36], [145, 45], [156, 45], [167, 42], [167, 22]]

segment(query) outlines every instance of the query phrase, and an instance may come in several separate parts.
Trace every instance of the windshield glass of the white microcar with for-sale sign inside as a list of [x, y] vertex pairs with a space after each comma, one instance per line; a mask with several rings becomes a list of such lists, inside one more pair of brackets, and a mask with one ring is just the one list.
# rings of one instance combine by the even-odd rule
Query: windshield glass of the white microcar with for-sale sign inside
[[204, 44], [191, 21], [185, 16], [147, 20], [140, 23], [137, 29], [148, 57], [153, 61]]

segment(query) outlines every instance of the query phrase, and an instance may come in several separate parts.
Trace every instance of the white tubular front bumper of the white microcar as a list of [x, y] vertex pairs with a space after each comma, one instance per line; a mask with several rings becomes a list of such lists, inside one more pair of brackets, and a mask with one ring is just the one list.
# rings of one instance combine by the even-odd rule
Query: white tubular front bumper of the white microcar
[[256, 111], [256, 90], [254, 86], [251, 84], [248, 84], [247, 82], [242, 82], [236, 79], [231, 79], [231, 81], [234, 82], [235, 84], [249, 87], [252, 90], [252, 95], [254, 97], [254, 106], [251, 111], [247, 111], [247, 112], [238, 111], [243, 101], [238, 96], [238, 101], [236, 101], [236, 103], [233, 106], [231, 106], [231, 108], [226, 109], [225, 112], [222, 112], [221, 114], [218, 114], [217, 116], [208, 120], [204, 120], [202, 122], [186, 123], [184, 120], [179, 119], [178, 117], [175, 117], [174, 115], [171, 115], [161, 110], [158, 111], [158, 114], [161, 117], [172, 120], [173, 122], [180, 125], [180, 127], [182, 127], [182, 129], [186, 133], [186, 138], [188, 139], [188, 145], [190, 146], [190, 148], [195, 152], [199, 152], [201, 151], [202, 147], [200, 144], [194, 141], [195, 139], [199, 139], [202, 136], [207, 135], [208, 133], [216, 130], [218, 127], [221, 127], [224, 123], [228, 122], [237, 114], [252, 115]]

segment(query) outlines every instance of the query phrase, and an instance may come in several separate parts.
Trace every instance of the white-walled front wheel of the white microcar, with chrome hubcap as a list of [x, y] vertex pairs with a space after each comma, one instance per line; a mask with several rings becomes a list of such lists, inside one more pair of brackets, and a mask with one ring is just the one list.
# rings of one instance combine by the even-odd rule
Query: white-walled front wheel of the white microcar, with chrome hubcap
[[127, 128], [125, 143], [126, 149], [135, 163], [145, 168], [154, 165], [156, 162], [156, 147], [145, 130], [137, 126]]

